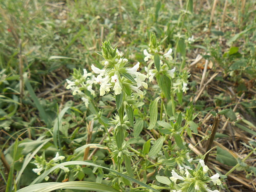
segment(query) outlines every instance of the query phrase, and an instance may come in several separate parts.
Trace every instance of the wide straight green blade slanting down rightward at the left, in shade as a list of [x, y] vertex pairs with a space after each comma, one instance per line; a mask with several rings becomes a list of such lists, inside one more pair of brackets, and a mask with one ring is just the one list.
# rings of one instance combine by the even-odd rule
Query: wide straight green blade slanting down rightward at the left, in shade
[[28, 76], [27, 74], [25, 73], [24, 74], [24, 81], [25, 81], [25, 85], [26, 85], [26, 88], [28, 89], [28, 92], [33, 100], [33, 102], [36, 104], [36, 108], [38, 109], [39, 111], [39, 115], [40, 117], [45, 121], [47, 127], [50, 127], [50, 121], [48, 119], [48, 116], [46, 115], [45, 113], [45, 109], [43, 108], [43, 106], [40, 104], [31, 84], [29, 83], [28, 81]]

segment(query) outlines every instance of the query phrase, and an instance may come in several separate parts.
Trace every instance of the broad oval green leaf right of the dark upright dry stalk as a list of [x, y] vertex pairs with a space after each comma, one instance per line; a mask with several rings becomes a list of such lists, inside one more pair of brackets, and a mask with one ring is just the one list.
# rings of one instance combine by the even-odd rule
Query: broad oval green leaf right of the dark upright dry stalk
[[217, 147], [216, 160], [228, 166], [235, 166], [237, 164], [236, 159], [228, 151], [223, 150], [220, 147]]

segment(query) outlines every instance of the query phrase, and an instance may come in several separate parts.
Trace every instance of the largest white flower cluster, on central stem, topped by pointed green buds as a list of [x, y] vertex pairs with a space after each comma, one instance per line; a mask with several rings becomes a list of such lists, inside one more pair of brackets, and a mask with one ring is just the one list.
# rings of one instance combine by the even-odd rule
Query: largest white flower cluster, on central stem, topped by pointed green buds
[[125, 67], [128, 59], [123, 58], [123, 53], [118, 49], [113, 49], [109, 41], [102, 43], [101, 54], [104, 57], [100, 62], [104, 66], [103, 69], [93, 64], [91, 66], [92, 71], [98, 74], [95, 81], [100, 84], [100, 95], [103, 96], [112, 89], [115, 95], [121, 94], [122, 91], [133, 90], [142, 97], [143, 92], [140, 87], [147, 88], [147, 83], [145, 83], [146, 75], [138, 72], [140, 63], [137, 62], [132, 68]]

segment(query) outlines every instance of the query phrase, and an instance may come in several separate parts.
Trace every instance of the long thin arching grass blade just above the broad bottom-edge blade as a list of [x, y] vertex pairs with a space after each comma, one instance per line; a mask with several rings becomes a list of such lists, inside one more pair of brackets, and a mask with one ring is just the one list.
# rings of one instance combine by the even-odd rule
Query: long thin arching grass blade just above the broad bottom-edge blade
[[[36, 183], [40, 183], [43, 181], [43, 179], [49, 175], [52, 171], [54, 171], [55, 169], [57, 168], [60, 168], [62, 166], [69, 166], [69, 165], [87, 165], [87, 166], [95, 166], [95, 167], [101, 167], [101, 168], [104, 168], [104, 169], [107, 169], [108, 171], [111, 171], [112, 173], [116, 173], [117, 175], [120, 175], [121, 177], [123, 178], [126, 178], [128, 180], [130, 180], [131, 182], [134, 182], [134, 183], [137, 183], [143, 187], [146, 187], [147, 189], [149, 190], [153, 190], [155, 192], [159, 192], [159, 190], [156, 190], [154, 189], [153, 187], [145, 184], [145, 183], [142, 183], [141, 181], [137, 180], [137, 179], [134, 179], [134, 178], [131, 178], [130, 176], [128, 175], [124, 175], [123, 173], [119, 173], [118, 171], [114, 171], [113, 169], [110, 169], [110, 168], [107, 168], [107, 167], [103, 167], [103, 166], [99, 166], [97, 164], [93, 164], [93, 163], [89, 163], [89, 162], [86, 162], [86, 161], [67, 161], [67, 162], [64, 162], [64, 163], [61, 163], [61, 164], [57, 164], [56, 166], [48, 169], [47, 171], [45, 171], [44, 173], [42, 173], [41, 175], [39, 175], [30, 185], [33, 185], [33, 184], [36, 184]], [[65, 182], [66, 183], [66, 182]], [[31, 187], [31, 186], [28, 186], [28, 187]], [[22, 190], [22, 189], [21, 189]], [[20, 191], [19, 191], [20, 192]], [[22, 191], [24, 192], [24, 191]], [[27, 191], [26, 191], [27, 192]]]

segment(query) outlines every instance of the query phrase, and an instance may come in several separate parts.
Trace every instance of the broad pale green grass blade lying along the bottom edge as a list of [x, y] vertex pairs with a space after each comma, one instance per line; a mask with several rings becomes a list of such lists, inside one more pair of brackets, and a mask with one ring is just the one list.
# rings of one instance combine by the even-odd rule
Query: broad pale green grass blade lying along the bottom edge
[[[82, 171], [81, 171], [82, 172]], [[84, 173], [83, 173], [84, 174]], [[40, 183], [24, 187], [17, 192], [50, 192], [58, 189], [71, 189], [82, 191], [118, 192], [108, 185], [89, 181], [68, 181], [64, 183], [50, 182]]]

